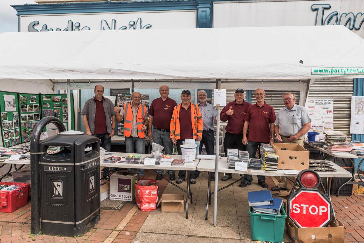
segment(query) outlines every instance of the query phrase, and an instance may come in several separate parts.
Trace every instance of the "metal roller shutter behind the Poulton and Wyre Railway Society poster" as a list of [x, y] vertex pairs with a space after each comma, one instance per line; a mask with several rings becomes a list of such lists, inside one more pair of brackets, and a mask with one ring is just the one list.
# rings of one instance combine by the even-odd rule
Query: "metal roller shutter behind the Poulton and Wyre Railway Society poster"
[[308, 98], [334, 99], [334, 130], [350, 134], [351, 97], [354, 79], [316, 79], [310, 86]]

